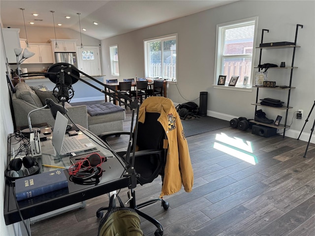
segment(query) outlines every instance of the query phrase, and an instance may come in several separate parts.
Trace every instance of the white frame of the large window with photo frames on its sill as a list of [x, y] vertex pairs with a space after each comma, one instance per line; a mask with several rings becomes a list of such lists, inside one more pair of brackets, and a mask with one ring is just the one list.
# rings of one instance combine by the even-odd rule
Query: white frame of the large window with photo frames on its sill
[[[246, 25], [254, 25], [254, 38], [253, 38], [253, 49], [252, 49], [252, 55], [232, 55], [232, 56], [223, 56], [223, 50], [224, 50], [224, 35], [223, 32], [225, 29], [232, 29], [232, 28], [237, 28], [237, 27], [243, 27]], [[214, 87], [215, 88], [220, 88], [220, 89], [245, 89], [245, 90], [252, 90], [252, 77], [254, 74], [254, 58], [255, 58], [255, 45], [256, 45], [256, 38], [257, 38], [257, 26], [258, 26], [258, 17], [253, 17], [249, 19], [244, 19], [240, 21], [235, 21], [235, 22], [229, 22], [229, 23], [224, 23], [217, 25], [217, 42], [216, 42], [216, 63], [215, 63], [215, 78], [214, 78]], [[248, 78], [249, 81], [247, 83], [247, 86], [244, 88], [243, 85], [237, 83], [236, 87], [229, 87], [227, 84], [225, 86], [217, 86], [218, 84], [218, 79], [220, 75], [223, 75], [223, 66], [222, 66], [222, 61], [223, 58], [252, 58], [252, 67], [251, 67], [251, 78]], [[237, 75], [236, 75], [237, 76]], [[230, 78], [226, 78], [230, 79]]]

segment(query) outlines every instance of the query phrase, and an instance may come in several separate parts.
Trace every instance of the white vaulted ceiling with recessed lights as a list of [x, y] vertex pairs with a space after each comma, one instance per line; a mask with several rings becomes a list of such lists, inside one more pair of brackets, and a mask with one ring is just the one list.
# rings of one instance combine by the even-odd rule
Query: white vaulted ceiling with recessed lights
[[[56, 30], [69, 28], [97, 39], [104, 39], [145, 28], [179, 17], [191, 15], [236, 0], [0, 0], [0, 17], [4, 26], [23, 26], [23, 13], [26, 28], [53, 27]], [[38, 13], [34, 17], [32, 13]], [[65, 19], [65, 16], [71, 16]], [[36, 21], [37, 20], [37, 21]], [[40, 21], [42, 20], [42, 21]], [[34, 22], [30, 25], [29, 22]], [[97, 22], [95, 26], [93, 22]], [[63, 24], [57, 26], [57, 24]]]

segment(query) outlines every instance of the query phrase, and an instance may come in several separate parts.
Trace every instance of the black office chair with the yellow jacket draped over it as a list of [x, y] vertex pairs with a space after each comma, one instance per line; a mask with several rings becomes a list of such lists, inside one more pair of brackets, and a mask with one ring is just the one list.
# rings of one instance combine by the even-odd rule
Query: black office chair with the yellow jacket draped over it
[[[138, 122], [137, 140], [135, 144], [139, 149], [135, 152], [134, 169], [137, 174], [140, 174], [140, 176], [137, 177], [137, 183], [141, 185], [151, 183], [159, 175], [161, 175], [163, 182], [168, 147], [164, 146], [165, 143], [167, 143], [164, 142], [167, 137], [161, 123], [158, 121], [159, 116], [159, 113], [146, 112], [144, 123]], [[127, 132], [122, 132], [120, 134], [129, 135]], [[101, 139], [107, 143], [107, 138], [113, 135], [117, 135], [117, 133], [103, 135]], [[117, 154], [123, 159], [126, 159], [126, 151], [117, 152]], [[130, 157], [132, 157], [132, 153], [130, 153]], [[130, 163], [131, 161], [132, 160], [130, 160]], [[140, 216], [147, 219], [158, 228], [155, 232], [155, 236], [162, 236], [163, 228], [161, 224], [153, 217], [142, 212], [140, 208], [156, 202], [161, 202], [161, 206], [167, 210], [169, 204], [161, 198], [153, 199], [142, 204], [136, 204], [135, 191], [133, 189], [131, 189], [131, 196], [128, 197], [131, 199], [129, 202], [130, 207], [135, 209]], [[101, 212], [105, 209], [106, 207], [99, 208], [96, 212], [96, 216], [101, 217]]]

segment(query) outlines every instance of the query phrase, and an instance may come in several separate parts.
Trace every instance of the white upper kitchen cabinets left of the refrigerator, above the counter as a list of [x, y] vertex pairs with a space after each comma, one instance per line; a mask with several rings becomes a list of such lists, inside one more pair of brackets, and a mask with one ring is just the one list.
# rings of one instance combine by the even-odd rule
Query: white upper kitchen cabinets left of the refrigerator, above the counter
[[29, 43], [29, 45], [30, 48], [28, 48], [28, 50], [35, 53], [35, 55], [27, 59], [27, 61], [24, 63], [54, 63], [53, 53], [50, 44]]

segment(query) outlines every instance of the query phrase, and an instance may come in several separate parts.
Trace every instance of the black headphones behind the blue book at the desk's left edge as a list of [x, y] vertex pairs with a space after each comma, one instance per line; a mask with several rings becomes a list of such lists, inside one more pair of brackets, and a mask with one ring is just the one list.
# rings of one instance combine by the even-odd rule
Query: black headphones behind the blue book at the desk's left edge
[[22, 165], [23, 165], [25, 168], [27, 168], [27, 169], [29, 169], [29, 168], [31, 168], [31, 167], [33, 167], [33, 166], [36, 166], [36, 167], [37, 167], [34, 172], [32, 172], [31, 174], [26, 175], [26, 176], [36, 175], [36, 174], [38, 174], [39, 171], [40, 171], [40, 168], [39, 168], [39, 165], [38, 165], [36, 159], [33, 158], [32, 156], [25, 156], [25, 157], [23, 157], [22, 160], [21, 160], [21, 158], [15, 158], [15, 159], [11, 160], [10, 163], [9, 163], [9, 165], [8, 165], [8, 167], [6, 168], [6, 170], [5, 170], [5, 172], [4, 172], [4, 176], [5, 176], [7, 179], [11, 180], [11, 181], [14, 181], [14, 180], [16, 180], [16, 179], [18, 179], [18, 178], [26, 177], [26, 176], [13, 177], [13, 176], [10, 176], [10, 174], [9, 174], [9, 172], [11, 172], [11, 171], [19, 171], [19, 170], [21, 170]]

